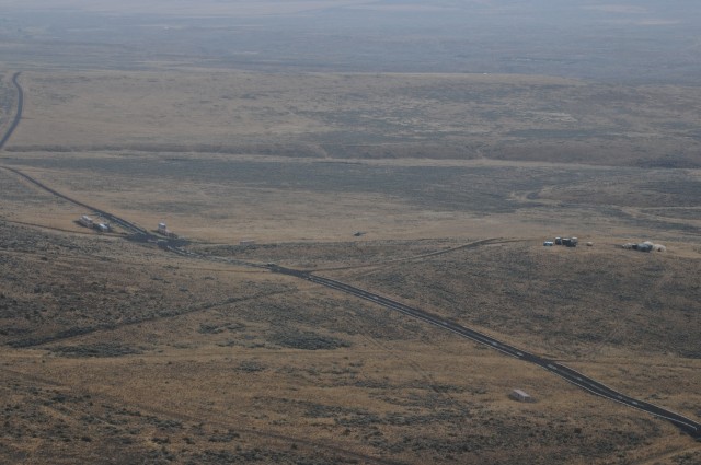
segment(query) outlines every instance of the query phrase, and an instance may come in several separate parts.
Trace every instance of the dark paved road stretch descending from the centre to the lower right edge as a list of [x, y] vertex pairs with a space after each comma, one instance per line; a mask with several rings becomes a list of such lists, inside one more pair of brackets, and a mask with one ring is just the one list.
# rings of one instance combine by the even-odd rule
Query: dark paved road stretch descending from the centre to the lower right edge
[[424, 312], [423, 310], [418, 310], [418, 309], [414, 309], [411, 307], [409, 305], [405, 305], [401, 302], [397, 302], [394, 300], [388, 299], [386, 297], [372, 293], [372, 292], [368, 292], [366, 290], [346, 284], [344, 282], [341, 281], [336, 281], [333, 279], [329, 279], [329, 278], [322, 278], [319, 276], [314, 276], [311, 275], [310, 272], [307, 271], [300, 271], [300, 270], [295, 270], [295, 269], [290, 269], [290, 268], [285, 268], [285, 267], [280, 267], [280, 266], [271, 266], [269, 267], [272, 271], [274, 272], [279, 272], [279, 274], [284, 274], [284, 275], [290, 275], [290, 276], [295, 276], [298, 278], [302, 278], [302, 279], [307, 279], [311, 282], [315, 282], [321, 286], [325, 286], [327, 288], [331, 289], [335, 289], [342, 292], [346, 292], [348, 294], [358, 297], [360, 299], [365, 299], [368, 300], [370, 302], [374, 302], [378, 305], [382, 305], [387, 309], [391, 309], [394, 311], [398, 311], [400, 313], [403, 313], [405, 315], [412, 316], [416, 319], [421, 319], [422, 322], [428, 323], [430, 325], [437, 326], [441, 329], [446, 329], [449, 330], [451, 333], [455, 333], [459, 336], [462, 336], [464, 338], [471, 339], [475, 342], [482, 344], [484, 346], [487, 346], [494, 350], [498, 350], [502, 353], [505, 353], [507, 356], [517, 358], [519, 360], [524, 360], [526, 362], [530, 362], [533, 364], [537, 364], [545, 370], [548, 370], [549, 372], [551, 372], [552, 374], [560, 376], [562, 379], [564, 379], [565, 381], [601, 397], [606, 397], [610, 400], [617, 402], [619, 404], [623, 404], [625, 406], [632, 407], [632, 408], [636, 408], [639, 410], [643, 410], [646, 411], [648, 414], [652, 414], [656, 417], [663, 418], [667, 421], [670, 421], [673, 425], [675, 425], [676, 427], [678, 427], [679, 429], [681, 429], [682, 431], [687, 432], [688, 434], [692, 435], [693, 438], [696, 438], [697, 440], [701, 440], [701, 423], [687, 418], [682, 415], [676, 414], [674, 411], [667, 410], [663, 407], [659, 407], [657, 405], [654, 404], [650, 404], [647, 402], [643, 402], [643, 400], [639, 400], [634, 397], [630, 397], [627, 396], [602, 383], [599, 383], [598, 381], [586, 376], [573, 369], [571, 369], [570, 367], [566, 367], [562, 363], [558, 363], [553, 360], [549, 360], [539, 356], [536, 356], [533, 353], [530, 353], [526, 350], [516, 348], [514, 346], [510, 346], [508, 344], [502, 342], [498, 339], [495, 339], [491, 336], [487, 336], [485, 334], [479, 333], [474, 329], [470, 329], [467, 328], [464, 326], [461, 326], [455, 322], [451, 322], [449, 319], [443, 318], [440, 316], [437, 315], [433, 315], [430, 313]]

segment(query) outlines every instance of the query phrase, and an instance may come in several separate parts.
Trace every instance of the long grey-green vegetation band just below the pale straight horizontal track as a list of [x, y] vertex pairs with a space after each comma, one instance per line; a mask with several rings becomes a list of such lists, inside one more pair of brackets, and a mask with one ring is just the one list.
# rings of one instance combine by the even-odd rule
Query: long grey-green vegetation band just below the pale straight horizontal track
[[[372, 164], [343, 163], [287, 163], [272, 161], [242, 161], [189, 159], [186, 164], [163, 164], [160, 161], [131, 159], [83, 160], [64, 158], [60, 162], [45, 158], [9, 160], [19, 167], [58, 170], [90, 170], [110, 176], [120, 173], [130, 182], [143, 183], [149, 176], [183, 179], [195, 183], [241, 183], [251, 187], [278, 189], [303, 189], [310, 193], [366, 193], [390, 195], [404, 199], [410, 205], [435, 210], [471, 211], [478, 214], [507, 213], [530, 206], [509, 197], [510, 191], [533, 191], [553, 178], [572, 182], [582, 176], [568, 170], [526, 171], [515, 167], [492, 166], [395, 166], [388, 171]], [[599, 173], [596, 173], [600, 175]], [[594, 172], [587, 172], [587, 176]], [[290, 179], [295, 179], [290, 184]], [[90, 188], [91, 186], [85, 186]], [[103, 186], [95, 186], [102, 188]], [[168, 211], [177, 211], [182, 205], [173, 205]], [[136, 239], [135, 239], [136, 240]]]

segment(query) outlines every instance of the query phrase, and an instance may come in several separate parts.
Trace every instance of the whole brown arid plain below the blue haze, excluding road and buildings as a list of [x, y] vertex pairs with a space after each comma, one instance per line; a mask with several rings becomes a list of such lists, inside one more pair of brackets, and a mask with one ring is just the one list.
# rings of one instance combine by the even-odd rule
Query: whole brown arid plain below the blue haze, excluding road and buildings
[[[15, 71], [0, 69], [0, 133]], [[312, 270], [698, 421], [701, 89], [156, 60], [19, 81], [0, 152], [0, 462], [701, 461], [671, 423], [536, 365], [207, 259]], [[8, 168], [166, 222], [199, 258], [88, 230], [93, 212]], [[556, 235], [581, 245], [543, 247]], [[667, 251], [620, 247], [644, 240]]]

